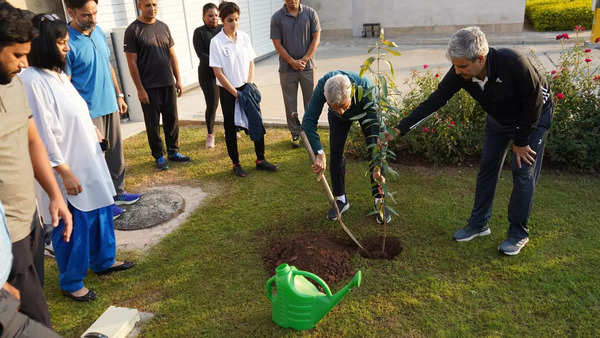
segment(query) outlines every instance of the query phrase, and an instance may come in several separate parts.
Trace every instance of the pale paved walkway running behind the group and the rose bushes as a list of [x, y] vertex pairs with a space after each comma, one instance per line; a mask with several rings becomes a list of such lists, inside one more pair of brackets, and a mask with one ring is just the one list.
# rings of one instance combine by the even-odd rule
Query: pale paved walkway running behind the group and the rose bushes
[[[575, 38], [573, 32], [571, 41]], [[493, 33], [488, 34], [490, 46], [510, 47], [521, 50], [523, 53], [535, 52], [537, 57], [547, 69], [553, 69], [553, 61], [558, 59], [561, 46], [555, 40], [556, 32], [521, 32], [521, 33]], [[590, 33], [585, 32], [582, 37], [589, 40]], [[394, 57], [392, 63], [396, 73], [397, 83], [404, 84], [413, 70], [423, 70], [427, 64], [432, 72], [445, 74], [450, 67], [450, 62], [444, 53], [448, 43], [448, 35], [400, 35], [390, 36], [389, 40], [395, 41], [402, 52], [401, 56]], [[374, 45], [374, 38], [324, 38], [316, 53], [317, 80], [329, 71], [344, 69], [360, 69], [360, 65], [368, 57], [368, 49]], [[594, 49], [593, 56], [600, 56], [600, 51]], [[599, 58], [600, 59], [600, 58]], [[255, 83], [261, 90], [263, 98], [261, 103], [263, 120], [269, 125], [285, 126], [285, 113], [281, 87], [279, 86], [278, 57], [270, 56], [256, 63]], [[300, 93], [298, 102], [302, 102]], [[299, 104], [300, 115], [303, 109]], [[179, 119], [204, 121], [204, 97], [199, 87], [186, 91], [178, 101]], [[219, 107], [217, 121], [222, 122], [222, 113]], [[321, 115], [319, 122], [327, 125], [326, 114]], [[123, 137], [127, 138], [144, 131], [143, 122], [122, 122]]]

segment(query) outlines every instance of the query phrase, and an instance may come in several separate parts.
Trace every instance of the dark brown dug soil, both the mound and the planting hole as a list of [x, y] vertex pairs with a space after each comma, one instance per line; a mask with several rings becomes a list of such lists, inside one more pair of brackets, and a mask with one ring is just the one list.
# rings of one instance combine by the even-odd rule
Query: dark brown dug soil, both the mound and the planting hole
[[[361, 256], [370, 259], [393, 259], [402, 251], [398, 238], [386, 239], [385, 252], [381, 250], [381, 237], [360, 239], [369, 250], [369, 255], [361, 251]], [[312, 272], [327, 284], [347, 282], [354, 276], [356, 268], [350, 260], [359, 251], [349, 240], [327, 237], [320, 233], [305, 233], [287, 239], [271, 241], [264, 256], [269, 274], [282, 263], [295, 266], [298, 270]]]

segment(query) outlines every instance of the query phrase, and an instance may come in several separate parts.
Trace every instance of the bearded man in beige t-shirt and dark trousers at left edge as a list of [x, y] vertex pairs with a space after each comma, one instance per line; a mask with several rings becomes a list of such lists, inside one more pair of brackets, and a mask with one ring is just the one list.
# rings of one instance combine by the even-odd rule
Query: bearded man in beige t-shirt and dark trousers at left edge
[[[27, 66], [32, 39], [30, 13], [0, 2], [0, 202], [6, 210], [14, 257], [7, 284], [20, 293], [19, 311], [50, 327], [41, 283], [44, 257], [34, 177], [50, 198], [52, 225], [58, 226], [59, 218], [65, 222], [63, 236], [67, 242], [73, 222], [56, 183], [46, 147], [31, 118], [23, 84], [15, 77]], [[9, 263], [0, 261], [0, 264]], [[0, 309], [6, 309], [6, 304], [0, 299]]]

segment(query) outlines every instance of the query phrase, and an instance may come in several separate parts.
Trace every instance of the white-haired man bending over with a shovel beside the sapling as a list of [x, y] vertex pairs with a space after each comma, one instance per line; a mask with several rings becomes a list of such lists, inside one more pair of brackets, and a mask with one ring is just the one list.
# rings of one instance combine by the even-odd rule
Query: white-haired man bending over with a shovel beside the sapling
[[[352, 87], [362, 87], [364, 90], [362, 99], [352, 97]], [[344, 145], [348, 132], [354, 121], [358, 121], [362, 132], [365, 135], [367, 147], [370, 144], [377, 142], [377, 138], [369, 137], [379, 134], [379, 124], [377, 122], [377, 112], [374, 109], [372, 98], [366, 95], [371, 91], [374, 84], [366, 77], [360, 77], [358, 73], [336, 70], [325, 74], [313, 91], [313, 95], [306, 107], [306, 112], [302, 118], [302, 129], [306, 133], [310, 145], [315, 152], [316, 160], [313, 164], [313, 171], [319, 176], [319, 179], [325, 172], [326, 160], [325, 151], [321, 145], [319, 134], [317, 134], [317, 123], [319, 116], [323, 110], [323, 106], [327, 102], [329, 106], [327, 118], [329, 120], [329, 151], [330, 165], [329, 171], [331, 174], [331, 185], [333, 186], [333, 195], [335, 196], [340, 214], [348, 210], [350, 203], [346, 198], [345, 191], [345, 167], [344, 160]], [[358, 90], [355, 91], [358, 96]], [[371, 175], [372, 194], [375, 198], [374, 204], [377, 205], [379, 195], [375, 180], [382, 180], [380, 171], [374, 171]], [[327, 218], [332, 221], [337, 220], [337, 212], [331, 208], [327, 213]], [[391, 216], [385, 209], [385, 215], [382, 218], [379, 214], [376, 216], [377, 223], [383, 224], [391, 221]]]

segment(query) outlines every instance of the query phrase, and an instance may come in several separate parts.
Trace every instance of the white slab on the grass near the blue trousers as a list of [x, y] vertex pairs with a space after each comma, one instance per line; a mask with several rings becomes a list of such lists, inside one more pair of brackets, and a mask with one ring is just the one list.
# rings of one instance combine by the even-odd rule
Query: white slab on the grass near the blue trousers
[[81, 337], [91, 332], [102, 333], [110, 338], [125, 338], [140, 320], [136, 309], [109, 306]]

